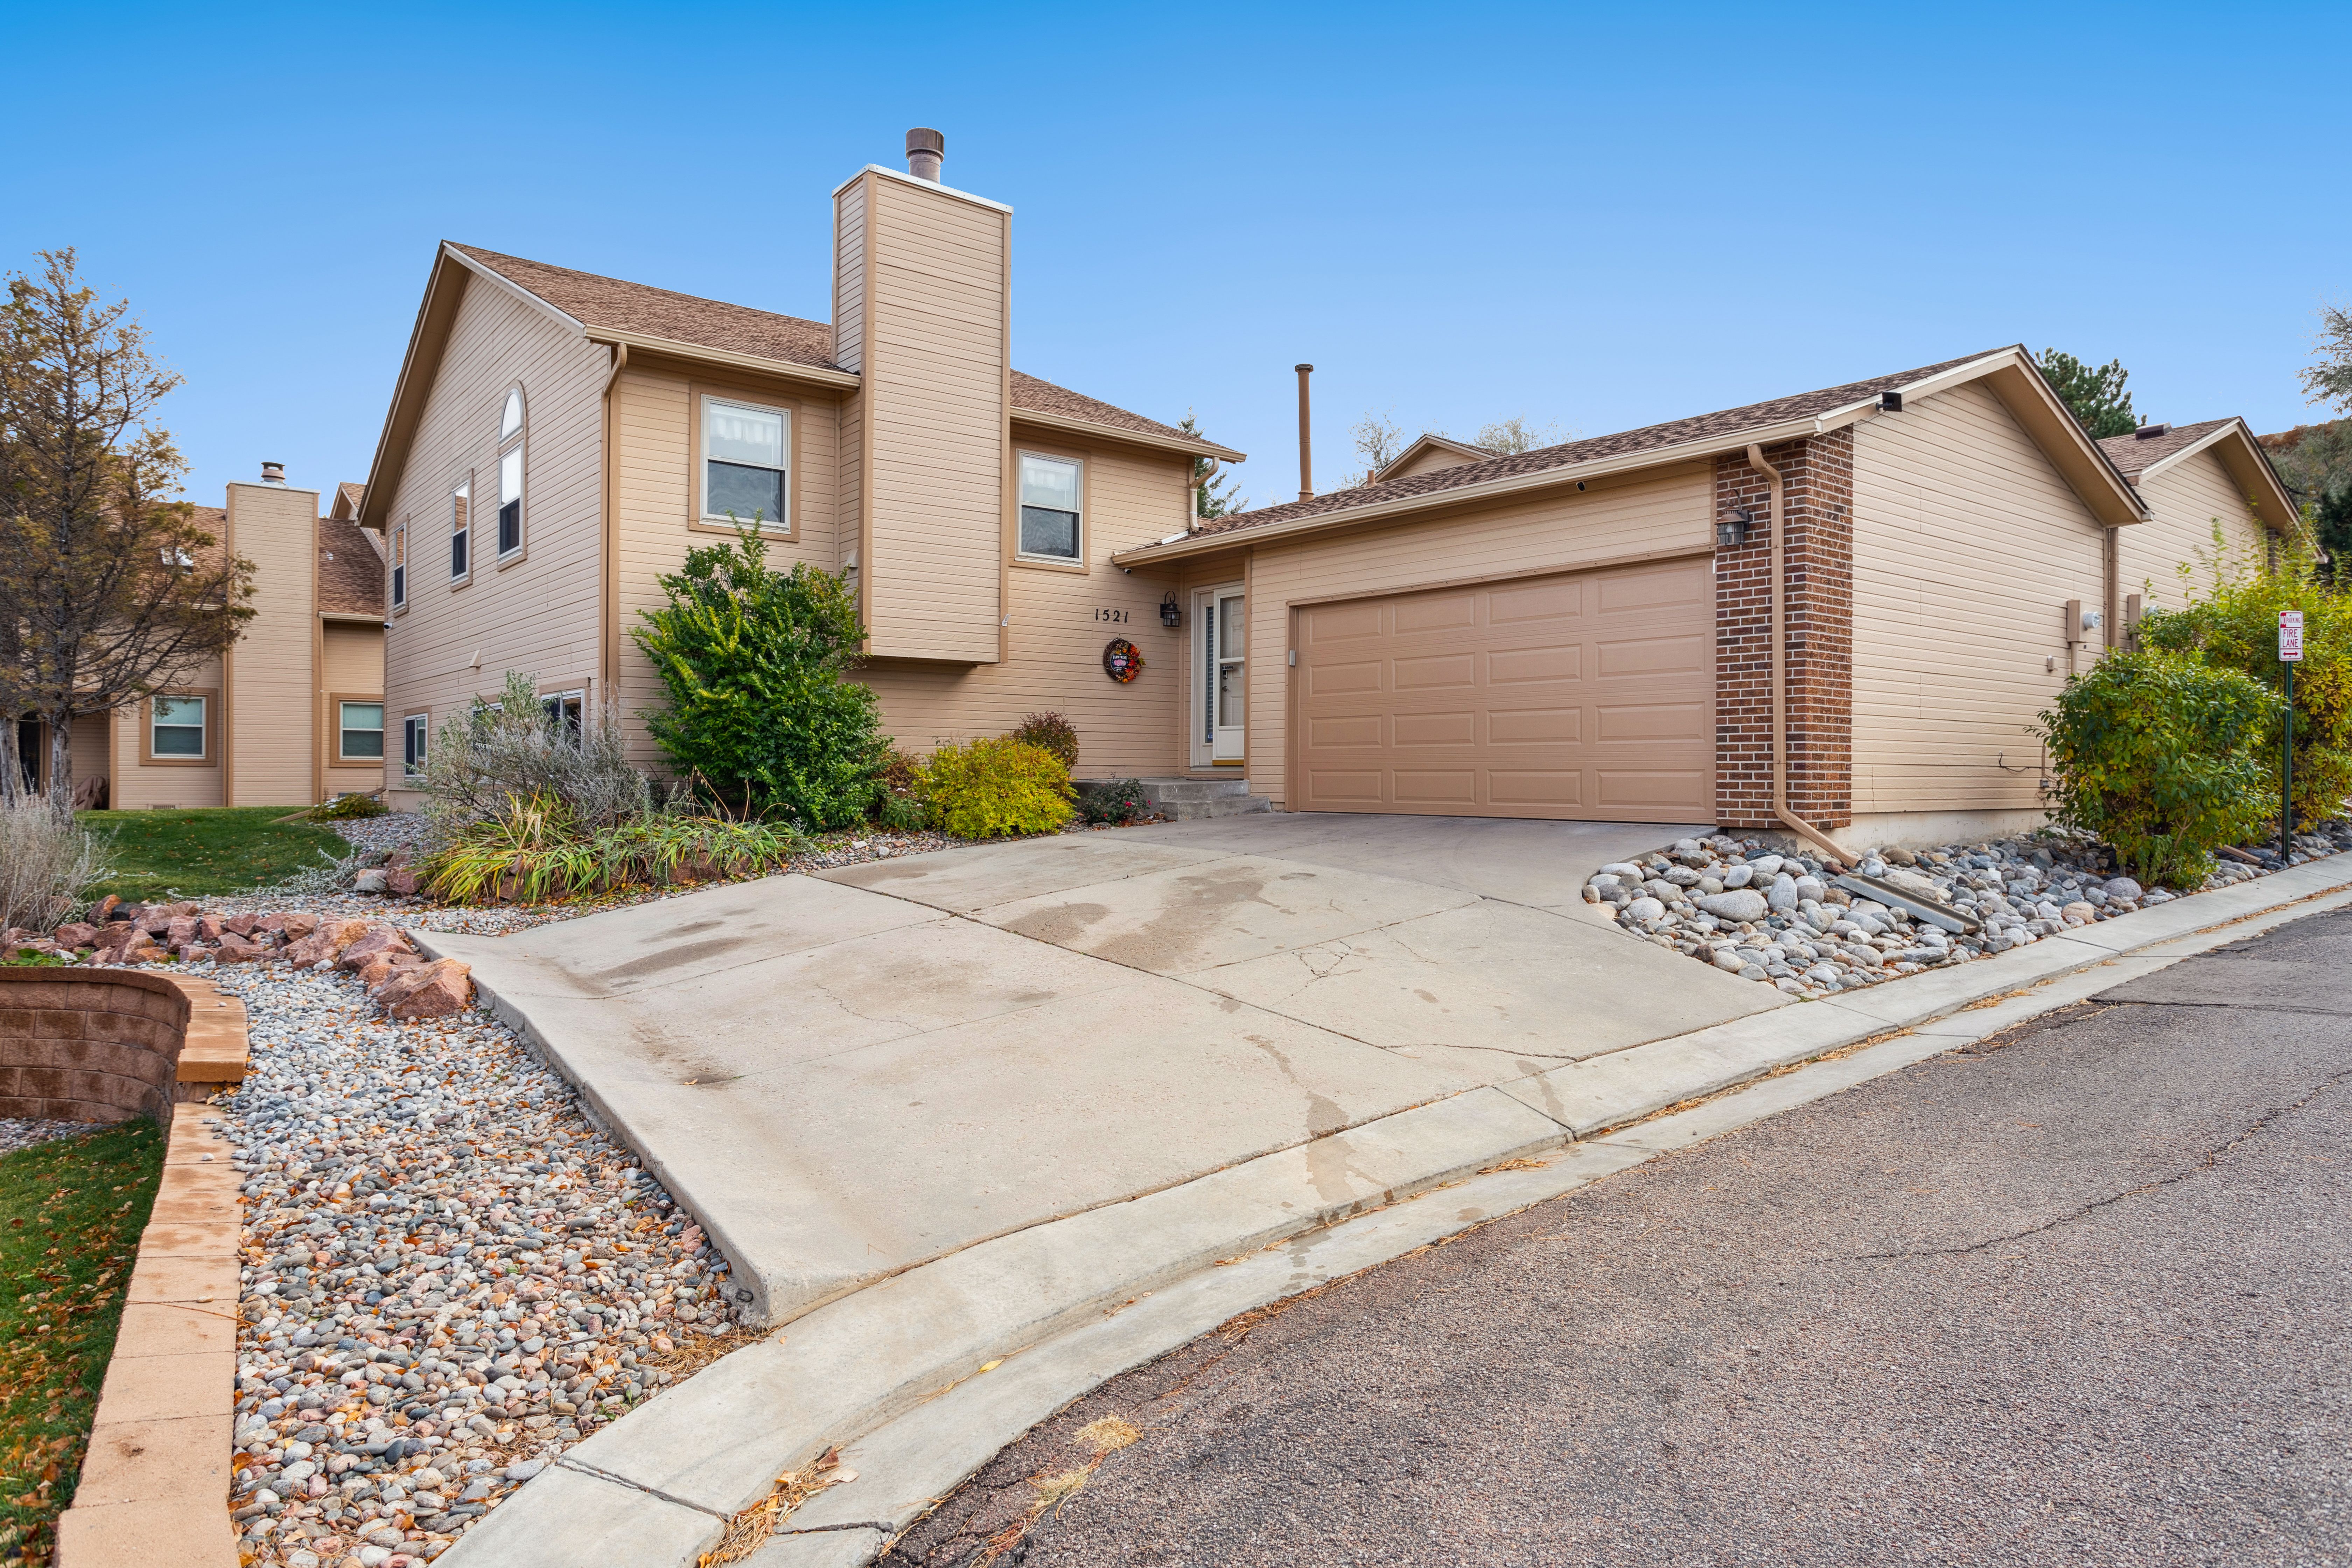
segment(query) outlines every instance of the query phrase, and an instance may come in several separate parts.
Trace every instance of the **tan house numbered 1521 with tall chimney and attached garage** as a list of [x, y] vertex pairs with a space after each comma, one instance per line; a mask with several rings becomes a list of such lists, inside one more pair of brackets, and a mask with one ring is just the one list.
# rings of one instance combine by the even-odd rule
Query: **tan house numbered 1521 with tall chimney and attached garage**
[[1011, 209], [908, 148], [833, 193], [830, 322], [442, 244], [360, 512], [407, 759], [522, 670], [656, 762], [628, 628], [757, 517], [856, 585], [915, 750], [1051, 708], [1080, 776], [1287, 811], [1924, 842], [2037, 820], [2067, 672], [2216, 527], [2296, 527], [2241, 421], [2093, 442], [2023, 348], [1538, 451], [1423, 437], [1202, 522], [1197, 468], [1242, 454], [1016, 371]]

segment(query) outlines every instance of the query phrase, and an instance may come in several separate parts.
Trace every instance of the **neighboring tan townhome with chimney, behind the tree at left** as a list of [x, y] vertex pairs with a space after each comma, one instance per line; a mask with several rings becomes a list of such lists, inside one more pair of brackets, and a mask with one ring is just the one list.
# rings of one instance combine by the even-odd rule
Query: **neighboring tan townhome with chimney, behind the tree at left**
[[[219, 658], [73, 726], [85, 806], [313, 806], [383, 788], [383, 545], [362, 529], [360, 487], [315, 489], [280, 463], [195, 508], [223, 550], [254, 562], [254, 618]], [[28, 783], [47, 788], [47, 733], [19, 736]]]

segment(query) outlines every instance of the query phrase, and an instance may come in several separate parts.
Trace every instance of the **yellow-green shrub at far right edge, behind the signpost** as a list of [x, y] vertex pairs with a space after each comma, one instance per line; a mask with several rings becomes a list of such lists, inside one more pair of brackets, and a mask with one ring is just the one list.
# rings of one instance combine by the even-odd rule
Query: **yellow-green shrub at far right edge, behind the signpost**
[[[2183, 588], [2187, 588], [2183, 571]], [[2284, 693], [2279, 611], [2303, 611], [2303, 665], [2296, 670], [2296, 818], [2324, 823], [2345, 813], [2352, 797], [2352, 592], [2319, 581], [2307, 541], [2293, 538], [2279, 567], [2253, 569], [2216, 557], [2211, 588], [2190, 590], [2180, 609], [2154, 609], [2140, 621], [2140, 646], [2190, 654], [2218, 670], [2239, 670]], [[2277, 790], [2279, 719], [2274, 703], [2267, 748]]]

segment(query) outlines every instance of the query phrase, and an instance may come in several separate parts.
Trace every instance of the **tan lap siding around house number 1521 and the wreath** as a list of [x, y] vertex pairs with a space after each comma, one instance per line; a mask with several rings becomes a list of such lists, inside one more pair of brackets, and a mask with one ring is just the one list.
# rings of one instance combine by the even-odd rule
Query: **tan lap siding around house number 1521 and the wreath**
[[[1181, 771], [1185, 632], [1160, 625], [1169, 578], [1124, 574], [1110, 555], [1183, 527], [1190, 461], [1030, 435], [1016, 428], [1014, 447], [1087, 465], [1084, 550], [1091, 569], [1011, 569], [1011, 625], [1000, 665], [875, 661], [858, 679], [880, 693], [884, 726], [913, 752], [929, 752], [938, 741], [1000, 736], [1030, 712], [1054, 710], [1077, 726], [1080, 778]], [[1096, 621], [1098, 609], [1124, 611], [1127, 621]], [[1103, 646], [1112, 637], [1143, 654], [1143, 672], [1134, 682], [1120, 684], [1103, 672]]]

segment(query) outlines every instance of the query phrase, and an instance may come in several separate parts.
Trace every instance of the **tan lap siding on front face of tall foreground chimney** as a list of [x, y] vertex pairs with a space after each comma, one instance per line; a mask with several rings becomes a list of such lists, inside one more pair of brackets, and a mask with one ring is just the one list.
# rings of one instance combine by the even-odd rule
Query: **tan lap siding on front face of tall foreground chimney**
[[[1007, 219], [868, 176], [863, 435], [875, 656], [995, 663], [1004, 548]], [[960, 686], [955, 675], [924, 689]]]

